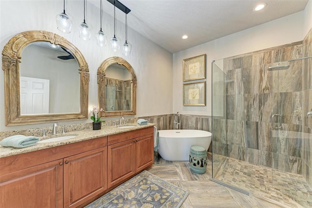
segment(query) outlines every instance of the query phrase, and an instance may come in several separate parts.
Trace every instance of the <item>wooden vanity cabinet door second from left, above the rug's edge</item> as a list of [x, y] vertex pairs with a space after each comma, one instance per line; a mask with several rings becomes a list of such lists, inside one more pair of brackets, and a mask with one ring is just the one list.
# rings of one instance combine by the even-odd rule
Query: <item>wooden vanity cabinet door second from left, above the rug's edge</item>
[[64, 208], [77, 207], [106, 189], [107, 147], [64, 158]]

